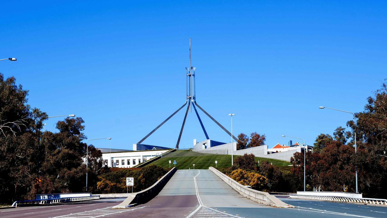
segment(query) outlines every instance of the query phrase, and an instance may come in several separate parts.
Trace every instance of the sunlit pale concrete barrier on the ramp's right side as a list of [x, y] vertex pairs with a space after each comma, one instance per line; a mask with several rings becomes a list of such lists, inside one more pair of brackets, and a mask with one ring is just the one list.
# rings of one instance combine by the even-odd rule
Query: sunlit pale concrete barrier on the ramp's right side
[[289, 204], [286, 204], [285, 202], [279, 200], [276, 196], [272, 196], [267, 192], [260, 192], [254, 189], [250, 189], [245, 187], [244, 185], [239, 184], [232, 178], [228, 177], [224, 173], [222, 173], [219, 170], [216, 170], [212, 166], [209, 167], [209, 170], [211, 170], [215, 175], [217, 175], [221, 180], [226, 182], [231, 188], [236, 190], [239, 194], [241, 194], [244, 197], [247, 197], [255, 202], [266, 204], [269, 206], [274, 207], [281, 207], [281, 208], [294, 208], [294, 206], [291, 206]]

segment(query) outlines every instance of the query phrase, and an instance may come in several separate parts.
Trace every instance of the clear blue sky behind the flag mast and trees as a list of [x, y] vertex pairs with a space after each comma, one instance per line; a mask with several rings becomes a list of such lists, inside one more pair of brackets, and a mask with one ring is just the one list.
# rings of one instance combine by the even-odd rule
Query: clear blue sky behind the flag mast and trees
[[[257, 131], [269, 147], [332, 134], [387, 78], [385, 1], [12, 1], [0, 6], [0, 62], [49, 116], [76, 114], [96, 147], [132, 149], [185, 101], [226, 128]], [[202, 112], [209, 136], [229, 142]], [[184, 111], [145, 144], [175, 147]], [[46, 121], [56, 131], [59, 119]], [[180, 147], [205, 139], [189, 113]], [[293, 140], [295, 141], [295, 140]]]

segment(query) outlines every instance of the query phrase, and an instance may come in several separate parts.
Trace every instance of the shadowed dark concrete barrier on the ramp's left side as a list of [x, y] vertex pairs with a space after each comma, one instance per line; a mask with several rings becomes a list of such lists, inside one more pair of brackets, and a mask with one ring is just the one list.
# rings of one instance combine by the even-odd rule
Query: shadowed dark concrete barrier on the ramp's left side
[[128, 208], [131, 204], [143, 204], [159, 194], [161, 189], [163, 189], [164, 185], [170, 180], [170, 178], [175, 174], [177, 168], [174, 167], [168, 173], [166, 173], [163, 177], [161, 177], [156, 183], [154, 183], [151, 187], [144, 189], [140, 192], [130, 193], [130, 196], [127, 197], [121, 204], [114, 206], [113, 208]]

